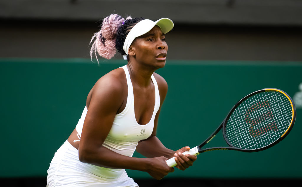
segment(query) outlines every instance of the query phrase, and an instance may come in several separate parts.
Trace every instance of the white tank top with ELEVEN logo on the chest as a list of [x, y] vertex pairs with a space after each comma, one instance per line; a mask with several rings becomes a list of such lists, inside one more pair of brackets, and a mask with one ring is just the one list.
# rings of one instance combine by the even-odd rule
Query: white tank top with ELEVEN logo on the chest
[[[121, 113], [115, 115], [113, 125], [111, 127], [111, 130], [107, 138], [103, 143], [103, 146], [119, 154], [132, 157], [138, 141], [148, 138], [153, 132], [154, 119], [159, 109], [160, 98], [159, 98], [157, 82], [154, 76], [152, 75], [151, 79], [155, 87], [154, 111], [150, 121], [146, 125], [138, 124], [135, 119], [135, 113], [134, 113], [133, 86], [130, 79], [130, 74], [127, 69], [127, 65], [124, 65], [123, 67], [120, 68], [124, 69], [127, 78], [127, 85], [128, 85], [127, 103], [125, 109]], [[76, 125], [76, 131], [79, 133], [80, 136], [82, 134], [83, 124], [86, 114], [87, 114], [87, 107], [85, 106], [81, 119], [79, 119], [79, 122]]]

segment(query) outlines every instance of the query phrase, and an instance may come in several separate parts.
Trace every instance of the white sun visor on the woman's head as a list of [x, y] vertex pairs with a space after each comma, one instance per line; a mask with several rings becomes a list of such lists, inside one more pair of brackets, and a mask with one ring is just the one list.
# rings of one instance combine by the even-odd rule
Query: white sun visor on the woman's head
[[174, 27], [174, 24], [172, 22], [172, 20], [170, 20], [169, 18], [161, 18], [157, 21], [152, 21], [152, 20], [142, 20], [140, 22], [138, 22], [128, 33], [126, 39], [125, 39], [125, 43], [123, 46], [123, 49], [126, 53], [126, 55], [124, 55], [124, 59], [127, 60], [127, 55], [128, 55], [128, 49], [130, 47], [130, 45], [132, 44], [133, 40], [138, 37], [138, 36], [142, 36], [143, 34], [146, 34], [147, 32], [149, 32], [155, 25], [159, 26], [159, 28], [162, 30], [162, 32], [168, 33], [170, 30], [172, 30], [172, 28]]

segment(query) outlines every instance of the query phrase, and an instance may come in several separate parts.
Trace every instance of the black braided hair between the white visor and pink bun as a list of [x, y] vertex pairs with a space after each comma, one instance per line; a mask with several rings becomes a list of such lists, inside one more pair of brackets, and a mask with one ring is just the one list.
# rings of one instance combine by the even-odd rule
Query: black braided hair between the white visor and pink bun
[[124, 43], [126, 40], [126, 36], [130, 32], [130, 30], [134, 27], [134, 25], [136, 25], [138, 22], [140, 22], [144, 19], [145, 18], [143, 18], [143, 17], [138, 17], [138, 18], [136, 17], [133, 19], [125, 20], [124, 25], [120, 26], [117, 29], [115, 47], [121, 55], [126, 55], [126, 53], [123, 49], [123, 46], [124, 46]]

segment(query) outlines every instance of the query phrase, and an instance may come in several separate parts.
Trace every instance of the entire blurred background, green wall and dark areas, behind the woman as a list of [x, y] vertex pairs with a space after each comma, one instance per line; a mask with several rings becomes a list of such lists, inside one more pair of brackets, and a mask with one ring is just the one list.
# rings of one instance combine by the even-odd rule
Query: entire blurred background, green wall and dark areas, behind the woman
[[[158, 71], [169, 84], [159, 122], [175, 127], [159, 128], [167, 147], [187, 145], [183, 138], [195, 146], [240, 98], [264, 87], [286, 91], [297, 106], [293, 132], [280, 145], [264, 153], [205, 153], [161, 181], [128, 171], [140, 187], [301, 182], [302, 1], [0, 0], [2, 186], [45, 186], [49, 162], [80, 118], [88, 91], [125, 64], [119, 54], [100, 66], [90, 61], [88, 43], [112, 13], [175, 24], [166, 34], [167, 66]], [[203, 118], [200, 130], [177, 131]]]

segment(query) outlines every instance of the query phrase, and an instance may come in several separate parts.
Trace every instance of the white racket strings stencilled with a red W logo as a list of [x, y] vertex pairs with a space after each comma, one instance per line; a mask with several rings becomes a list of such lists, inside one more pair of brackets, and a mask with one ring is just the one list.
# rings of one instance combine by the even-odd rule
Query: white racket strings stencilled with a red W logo
[[265, 147], [284, 134], [291, 118], [292, 106], [284, 94], [261, 92], [244, 100], [233, 111], [226, 124], [226, 137], [234, 147]]

